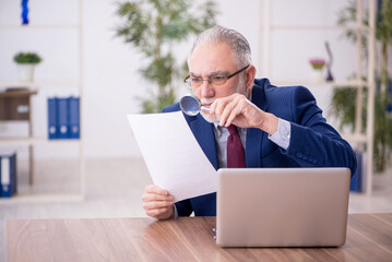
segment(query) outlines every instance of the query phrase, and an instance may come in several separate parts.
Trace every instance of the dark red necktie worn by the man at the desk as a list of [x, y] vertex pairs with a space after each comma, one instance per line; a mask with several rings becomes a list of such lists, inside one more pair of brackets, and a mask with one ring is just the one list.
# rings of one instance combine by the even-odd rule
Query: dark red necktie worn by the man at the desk
[[240, 168], [247, 167], [245, 160], [245, 152], [241, 144], [241, 138], [238, 134], [237, 127], [234, 124], [228, 126], [230, 135], [227, 139], [227, 167]]

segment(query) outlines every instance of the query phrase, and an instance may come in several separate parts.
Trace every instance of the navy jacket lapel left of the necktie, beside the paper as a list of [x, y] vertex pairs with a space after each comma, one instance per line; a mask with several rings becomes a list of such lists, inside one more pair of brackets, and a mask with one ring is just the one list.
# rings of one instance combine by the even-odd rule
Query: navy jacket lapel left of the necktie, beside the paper
[[219, 163], [217, 160], [213, 124], [209, 123], [203, 119], [202, 116], [198, 115], [197, 117], [191, 117], [189, 127], [192, 130], [194, 138], [199, 142], [200, 147], [203, 150], [211, 164], [217, 170], [219, 168]]

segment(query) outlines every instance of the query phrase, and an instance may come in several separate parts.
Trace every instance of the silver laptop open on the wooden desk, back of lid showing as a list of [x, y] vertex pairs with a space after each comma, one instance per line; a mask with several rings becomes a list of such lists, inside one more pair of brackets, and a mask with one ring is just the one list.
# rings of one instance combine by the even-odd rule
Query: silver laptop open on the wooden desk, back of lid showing
[[348, 168], [222, 168], [217, 172], [218, 246], [345, 243]]

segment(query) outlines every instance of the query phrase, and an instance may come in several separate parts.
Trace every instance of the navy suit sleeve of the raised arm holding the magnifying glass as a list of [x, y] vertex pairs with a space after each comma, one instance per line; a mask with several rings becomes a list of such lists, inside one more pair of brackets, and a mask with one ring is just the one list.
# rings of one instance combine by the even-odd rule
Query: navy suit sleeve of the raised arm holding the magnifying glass
[[302, 167], [348, 167], [354, 176], [357, 163], [353, 148], [326, 123], [311, 93], [293, 88], [290, 142], [282, 153]]

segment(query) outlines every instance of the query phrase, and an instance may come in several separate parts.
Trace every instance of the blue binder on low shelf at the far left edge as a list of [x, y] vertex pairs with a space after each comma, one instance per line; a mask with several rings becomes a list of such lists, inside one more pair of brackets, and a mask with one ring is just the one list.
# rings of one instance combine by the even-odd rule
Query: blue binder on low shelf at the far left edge
[[0, 153], [0, 183], [1, 198], [16, 193], [16, 152]]

